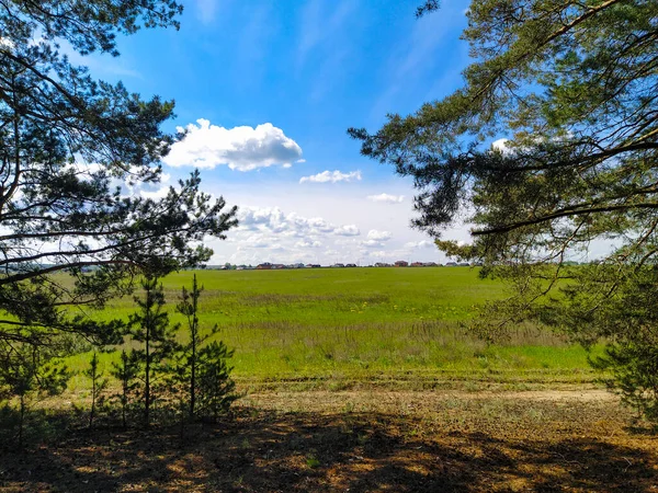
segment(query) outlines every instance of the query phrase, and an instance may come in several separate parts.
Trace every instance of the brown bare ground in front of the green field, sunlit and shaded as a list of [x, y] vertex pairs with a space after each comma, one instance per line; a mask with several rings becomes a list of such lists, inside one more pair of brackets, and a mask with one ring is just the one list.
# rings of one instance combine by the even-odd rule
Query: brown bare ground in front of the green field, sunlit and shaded
[[598, 389], [308, 391], [189, 428], [4, 450], [5, 492], [651, 492], [658, 437]]

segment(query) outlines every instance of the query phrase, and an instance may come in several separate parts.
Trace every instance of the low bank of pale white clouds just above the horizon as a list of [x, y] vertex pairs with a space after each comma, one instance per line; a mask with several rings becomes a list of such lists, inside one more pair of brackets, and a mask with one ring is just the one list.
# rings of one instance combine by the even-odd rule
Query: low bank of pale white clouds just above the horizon
[[[387, 190], [381, 184], [371, 186], [364, 181], [344, 186], [292, 183], [287, 188], [285, 185], [263, 187], [257, 195], [248, 185], [225, 192], [229, 204], [240, 205], [238, 216], [241, 222], [228, 232], [235, 242], [208, 240], [208, 246], [215, 251], [211, 263], [304, 262], [330, 265], [353, 262], [371, 265], [398, 260], [445, 263], [444, 254], [433, 246], [431, 238], [409, 228], [409, 218], [413, 214], [409, 204], [413, 193], [411, 186]], [[318, 194], [318, 186], [322, 188], [321, 194]], [[352, 192], [347, 193], [345, 187]], [[405, 202], [382, 205], [365, 198], [382, 192], [405, 195]], [[387, 209], [386, 214], [382, 214], [382, 207]], [[370, 231], [374, 232], [368, 238]], [[467, 226], [446, 234], [446, 239], [469, 238]], [[257, 237], [252, 239], [256, 244], [269, 243], [282, 250], [249, 246], [246, 243], [251, 237]], [[363, 241], [366, 244], [362, 244]], [[317, 244], [314, 242], [321, 243], [321, 246], [314, 246]], [[327, 250], [332, 252], [328, 254]]]

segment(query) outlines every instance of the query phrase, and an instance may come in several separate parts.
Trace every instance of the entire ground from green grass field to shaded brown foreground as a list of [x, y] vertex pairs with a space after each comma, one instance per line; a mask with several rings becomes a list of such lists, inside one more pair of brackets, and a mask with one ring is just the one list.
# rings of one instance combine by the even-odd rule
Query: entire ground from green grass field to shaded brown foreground
[[[236, 349], [230, 415], [184, 436], [102, 417], [90, 431], [76, 377], [31, 402], [24, 452], [0, 444], [1, 492], [658, 491], [655, 428], [595, 383], [582, 348], [533, 326], [487, 346], [461, 328], [504, 296], [476, 271], [197, 274], [203, 324]], [[171, 311], [191, 278], [164, 279]]]

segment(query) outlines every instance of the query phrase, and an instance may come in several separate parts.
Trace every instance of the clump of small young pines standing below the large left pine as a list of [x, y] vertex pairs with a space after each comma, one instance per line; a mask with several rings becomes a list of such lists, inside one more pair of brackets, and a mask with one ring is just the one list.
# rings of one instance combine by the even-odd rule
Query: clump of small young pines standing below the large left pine
[[141, 344], [121, 354], [113, 365], [112, 376], [121, 381], [115, 401], [121, 405], [122, 423], [126, 427], [132, 410], [139, 410], [143, 422], [154, 422], [154, 403], [158, 402], [158, 420], [168, 422], [175, 415], [181, 436], [186, 421], [197, 417], [216, 421], [237, 399], [227, 359], [232, 356], [223, 342], [207, 343], [218, 330], [202, 333], [198, 322], [198, 299], [203, 288], [193, 278], [192, 289], [183, 288], [177, 310], [188, 320], [190, 330], [185, 344], [177, 342], [179, 326], [169, 324], [164, 311], [162, 285], [155, 276], [143, 283], [144, 296], [135, 297], [139, 311], [131, 317], [127, 336]]

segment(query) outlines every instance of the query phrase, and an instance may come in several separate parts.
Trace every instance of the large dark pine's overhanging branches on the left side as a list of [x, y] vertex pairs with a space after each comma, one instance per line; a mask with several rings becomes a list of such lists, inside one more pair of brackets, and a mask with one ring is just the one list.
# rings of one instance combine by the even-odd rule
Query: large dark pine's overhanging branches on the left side
[[94, 81], [57, 44], [117, 55], [117, 34], [178, 26], [181, 9], [172, 0], [2, 3], [1, 341], [31, 344], [25, 331], [36, 330], [42, 345], [61, 333], [116, 344], [121, 322], [90, 322], [67, 308], [102, 308], [131, 293], [145, 268], [205, 262], [203, 238], [224, 238], [236, 225], [236, 209], [202, 193], [196, 172], [162, 199], [121, 190], [160, 181], [177, 138], [160, 128], [173, 102]]

